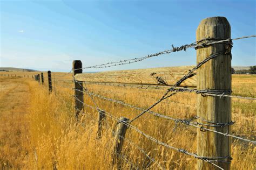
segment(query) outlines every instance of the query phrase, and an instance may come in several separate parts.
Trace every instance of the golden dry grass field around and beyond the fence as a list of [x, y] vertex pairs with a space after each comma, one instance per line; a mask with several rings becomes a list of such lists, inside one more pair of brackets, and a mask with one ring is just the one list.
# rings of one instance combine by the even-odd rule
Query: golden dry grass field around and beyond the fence
[[[13, 73], [12, 73], [13, 74]], [[18, 73], [17, 73], [18, 74]], [[29, 73], [35, 74], [35, 73]], [[22, 74], [21, 74], [22, 75]], [[45, 74], [46, 75], [46, 74]], [[106, 118], [102, 138], [97, 139], [98, 112], [85, 108], [77, 123], [73, 114], [71, 74], [55, 73], [53, 94], [31, 78], [0, 77], [0, 164], [2, 169], [111, 169], [112, 130], [116, 122]], [[156, 102], [164, 89], [138, 89], [87, 84], [94, 93], [147, 108]], [[256, 97], [256, 75], [233, 75], [233, 95]], [[123, 105], [94, 98], [100, 108], [117, 117], [133, 118], [140, 112]], [[89, 96], [84, 101], [93, 106]], [[161, 102], [153, 111], [174, 118], [196, 116], [196, 94], [182, 93]], [[255, 140], [256, 102], [232, 98], [232, 133]], [[197, 152], [197, 129], [175, 124], [150, 114], [132, 123], [138, 129], [164, 143]], [[128, 129], [126, 138], [142, 147], [166, 169], [195, 169], [197, 160], [146, 139]], [[255, 169], [256, 147], [232, 140], [232, 169]], [[140, 169], [158, 169], [140, 150], [124, 143], [122, 154]], [[130, 164], [123, 162], [125, 169]]]

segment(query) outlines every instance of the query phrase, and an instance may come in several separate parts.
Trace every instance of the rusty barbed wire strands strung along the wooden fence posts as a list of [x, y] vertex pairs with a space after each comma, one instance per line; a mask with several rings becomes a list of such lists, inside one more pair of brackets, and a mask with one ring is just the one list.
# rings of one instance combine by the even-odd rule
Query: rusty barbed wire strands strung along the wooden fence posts
[[[196, 42], [193, 42], [191, 44], [182, 45], [179, 47], [174, 47], [172, 45], [172, 49], [167, 49], [165, 51], [161, 51], [158, 53], [143, 56], [142, 58], [133, 58], [133, 59], [127, 59], [127, 60], [120, 60], [120, 61], [116, 61], [116, 62], [107, 62], [107, 63], [103, 63], [100, 65], [93, 65], [93, 66], [87, 66], [87, 67], [82, 67], [82, 62], [80, 62], [80, 61], [74, 61], [73, 68], [72, 68], [71, 72], [73, 72], [73, 74], [72, 74], [73, 83], [75, 83], [75, 88], [72, 89], [75, 93], [75, 95], [72, 96], [75, 100], [75, 105], [74, 105], [75, 111], [76, 111], [75, 115], [77, 115], [77, 113], [82, 114], [82, 115], [87, 115], [87, 118], [90, 118], [94, 122], [98, 122], [99, 130], [102, 127], [101, 122], [103, 122], [103, 121], [106, 122], [106, 120], [104, 118], [101, 118], [101, 119], [99, 118], [97, 120], [96, 118], [91, 116], [89, 112], [85, 111], [84, 108], [90, 108], [92, 110], [95, 110], [96, 112], [98, 112], [99, 115], [103, 115], [103, 117], [108, 117], [113, 122], [116, 122], [116, 124], [118, 125], [117, 130], [113, 130], [112, 127], [108, 123], [106, 123], [106, 128], [109, 129], [115, 135], [115, 139], [113, 139], [112, 143], [116, 143], [116, 141], [118, 141], [116, 143], [117, 146], [115, 146], [115, 147], [117, 147], [117, 149], [113, 150], [112, 152], [114, 155], [116, 155], [115, 157], [118, 157], [120, 160], [122, 159], [123, 161], [125, 161], [126, 164], [129, 165], [131, 168], [139, 169], [140, 166], [137, 164], [137, 162], [131, 162], [131, 160], [129, 160], [129, 158], [127, 158], [125, 154], [122, 154], [122, 145], [124, 142], [132, 145], [133, 147], [136, 147], [137, 150], [139, 150], [141, 153], [143, 153], [150, 160], [150, 164], [151, 164], [151, 162], [154, 162], [154, 164], [157, 165], [157, 168], [161, 168], [161, 169], [165, 169], [165, 166], [161, 165], [161, 163], [159, 161], [157, 161], [151, 155], [147, 154], [147, 152], [142, 147], [135, 144], [132, 140], [126, 138], [125, 137], [126, 129], [139, 133], [140, 135], [144, 136], [146, 139], [149, 139], [153, 143], [156, 143], [163, 147], [177, 151], [181, 154], [190, 155], [192, 158], [196, 158], [201, 161], [204, 161], [207, 164], [214, 166], [215, 168], [226, 169], [226, 168], [222, 167], [221, 165], [227, 165], [225, 167], [230, 166], [231, 160], [232, 160], [230, 154], [227, 154], [225, 156], [219, 156], [219, 155], [207, 156], [207, 155], [200, 155], [198, 153], [193, 153], [192, 151], [187, 151], [184, 148], [179, 148], [176, 146], [169, 145], [169, 144], [165, 143], [164, 141], [161, 141], [157, 138], [152, 137], [150, 134], [147, 134], [146, 132], [144, 132], [144, 131], [140, 130], [139, 128], [137, 128], [136, 126], [134, 126], [133, 122], [138, 121], [138, 119], [142, 118], [143, 115], [145, 115], [145, 114], [151, 114], [151, 115], [154, 115], [159, 118], [173, 121], [175, 124], [174, 129], [176, 129], [176, 126], [178, 124], [183, 124], [185, 126], [191, 126], [192, 128], [199, 129], [201, 132], [207, 131], [207, 132], [211, 132], [211, 133], [216, 133], [225, 138], [232, 137], [232, 138], [235, 138], [235, 139], [247, 142], [247, 143], [251, 143], [252, 145], [255, 145], [256, 144], [255, 140], [242, 138], [242, 137], [235, 136], [234, 134], [229, 133], [229, 131], [226, 131], [226, 133], [225, 133], [225, 132], [223, 132], [223, 130], [220, 130], [220, 129], [228, 128], [229, 126], [233, 125], [235, 123], [233, 121], [230, 121], [230, 122], [211, 121], [211, 120], [205, 119], [200, 116], [193, 116], [193, 117], [186, 118], [186, 119], [174, 118], [174, 117], [166, 116], [166, 114], [161, 114], [158, 112], [151, 111], [152, 108], [156, 107], [156, 105], [163, 102], [167, 98], [170, 98], [176, 94], [182, 94], [182, 93], [195, 93], [195, 94], [200, 94], [201, 96], [212, 96], [212, 97], [218, 97], [218, 98], [239, 98], [242, 100], [255, 101], [256, 98], [254, 98], [254, 97], [231, 95], [232, 94], [231, 89], [217, 90], [217, 89], [198, 89], [198, 88], [190, 88], [190, 87], [180, 87], [181, 83], [183, 83], [185, 80], [189, 79], [191, 76], [195, 75], [196, 70], [198, 70], [201, 67], [205, 67], [205, 64], [207, 62], [210, 62], [215, 58], [220, 58], [221, 56], [222, 57], [231, 56], [231, 48], [233, 46], [234, 40], [253, 38], [253, 37], [256, 37], [256, 36], [246, 36], [246, 37], [240, 37], [240, 38], [235, 38], [235, 39], [204, 38], [204, 39], [198, 40]], [[193, 67], [191, 70], [189, 70], [187, 74], [183, 75], [183, 77], [181, 77], [178, 81], [176, 81], [176, 83], [174, 83], [172, 86], [166, 86], [166, 84], [164, 84], [164, 83], [160, 84], [160, 85], [153, 85], [153, 84], [126, 84], [126, 83], [111, 83], [111, 82], [87, 82], [87, 81], [78, 80], [77, 76], [76, 76], [76, 74], [82, 74], [83, 69], [107, 68], [107, 67], [114, 67], [114, 66], [120, 66], [120, 65], [127, 65], [127, 64], [131, 64], [131, 63], [135, 63], [135, 62], [140, 62], [140, 61], [152, 58], [154, 56], [159, 56], [162, 54], [170, 54], [173, 52], [186, 51], [186, 49], [188, 49], [188, 48], [201, 49], [201, 48], [207, 48], [207, 47], [212, 47], [212, 46], [218, 47], [219, 45], [223, 45], [223, 47], [224, 47], [221, 52], [213, 53], [209, 56], [206, 56], [204, 60], [198, 62], [195, 67]], [[79, 67], [77, 67], [77, 66], [79, 66]], [[67, 74], [70, 74], [70, 73], [66, 73], [63, 76], [66, 76]], [[35, 80], [39, 81], [40, 80], [39, 76], [40, 75], [35, 75]], [[49, 72], [48, 72], [48, 77], [49, 77]], [[54, 78], [53, 82], [54, 82], [54, 86], [55, 86], [54, 87], [55, 93], [56, 94], [62, 93], [61, 91], [56, 92], [56, 87], [58, 89], [58, 86], [56, 85], [57, 80], [55, 80], [55, 76], [53, 76], [53, 78]], [[52, 80], [48, 79], [48, 82], [49, 82], [49, 93], [52, 93]], [[144, 108], [138, 107], [136, 105], [126, 103], [121, 100], [116, 100], [114, 98], [109, 98], [104, 95], [94, 93], [87, 88], [87, 84], [97, 84], [97, 85], [101, 85], [101, 86], [130, 87], [130, 88], [139, 88], [139, 89], [147, 89], [147, 90], [158, 90], [159, 89], [159, 90], [165, 90], [165, 93], [159, 98], [159, 100], [157, 100], [156, 102], [151, 104], [149, 107], [144, 109]], [[68, 86], [67, 87], [60, 86], [59, 88], [66, 88], [67, 90], [70, 90], [70, 87], [68, 87]], [[84, 94], [86, 94], [90, 98], [90, 101], [93, 105], [90, 105], [90, 104], [87, 104], [86, 102], [84, 102]], [[112, 112], [106, 111], [104, 108], [100, 108], [99, 104], [97, 104], [95, 98], [99, 98], [100, 100], [105, 100], [108, 102], [120, 104], [120, 105], [123, 105], [124, 107], [129, 107], [129, 108], [138, 110], [138, 111], [140, 111], [140, 113], [131, 119], [125, 118], [125, 121], [124, 121], [124, 119], [123, 119], [124, 117], [118, 118], [117, 116], [114, 116], [114, 114]], [[63, 102], [61, 102], [61, 101], [58, 101], [58, 102], [63, 105]], [[65, 105], [63, 105], [63, 107], [65, 108]], [[67, 111], [69, 111], [69, 110], [67, 110]], [[172, 114], [169, 113], [168, 115], [172, 115]], [[117, 158], [113, 158], [114, 164], [117, 164], [118, 167], [122, 166], [123, 163], [117, 161], [116, 159]], [[147, 167], [149, 167], [149, 166], [150, 165], [147, 165]], [[200, 166], [201, 166], [201, 164], [200, 164]]]

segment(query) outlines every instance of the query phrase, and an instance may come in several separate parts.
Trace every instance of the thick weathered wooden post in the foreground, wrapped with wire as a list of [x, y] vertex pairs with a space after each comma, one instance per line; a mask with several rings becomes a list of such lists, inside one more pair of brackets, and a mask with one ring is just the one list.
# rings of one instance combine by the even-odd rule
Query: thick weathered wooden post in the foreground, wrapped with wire
[[[225, 17], [211, 17], [203, 19], [197, 28], [197, 41], [210, 38], [211, 40], [231, 38], [231, 26]], [[201, 41], [199, 44], [206, 42]], [[212, 44], [210, 46], [197, 49], [197, 63], [203, 61], [208, 56], [226, 52], [228, 45]], [[198, 90], [231, 90], [231, 54], [217, 56], [197, 69], [197, 89]], [[231, 122], [231, 98], [217, 97], [197, 94], [197, 116], [211, 122], [230, 123]], [[199, 123], [202, 122], [200, 119]], [[224, 128], [206, 126], [207, 129], [229, 133], [231, 126]], [[230, 157], [231, 138], [221, 134], [197, 130], [197, 152], [201, 157]], [[218, 159], [230, 162], [230, 158]], [[215, 162], [214, 162], [215, 163]], [[230, 164], [226, 162], [216, 162], [224, 169], [230, 169]], [[203, 160], [198, 160], [198, 169], [218, 169]]]

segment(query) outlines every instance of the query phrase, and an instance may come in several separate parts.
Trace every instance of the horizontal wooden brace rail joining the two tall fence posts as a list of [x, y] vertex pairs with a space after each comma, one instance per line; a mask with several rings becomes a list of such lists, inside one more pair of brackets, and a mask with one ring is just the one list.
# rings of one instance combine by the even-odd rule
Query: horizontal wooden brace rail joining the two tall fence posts
[[[157, 77], [161, 77], [164, 82], [172, 86], [181, 77], [189, 72], [193, 66], [181, 67], [161, 67], [147, 69], [117, 70], [99, 73], [76, 74], [78, 81], [86, 82], [111, 82], [111, 83], [127, 83], [127, 84], [160, 84]], [[155, 73], [154, 75], [151, 75]], [[190, 77], [181, 83], [181, 86], [196, 86], [196, 76]]]

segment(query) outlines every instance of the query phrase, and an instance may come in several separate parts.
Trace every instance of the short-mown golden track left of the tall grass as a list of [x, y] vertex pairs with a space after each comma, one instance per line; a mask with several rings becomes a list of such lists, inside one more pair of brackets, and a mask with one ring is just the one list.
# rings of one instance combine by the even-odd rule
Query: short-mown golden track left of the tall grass
[[[25, 79], [0, 77], [0, 165], [22, 168], [28, 142], [25, 114], [29, 104]], [[0, 169], [1, 169], [0, 166]]]

